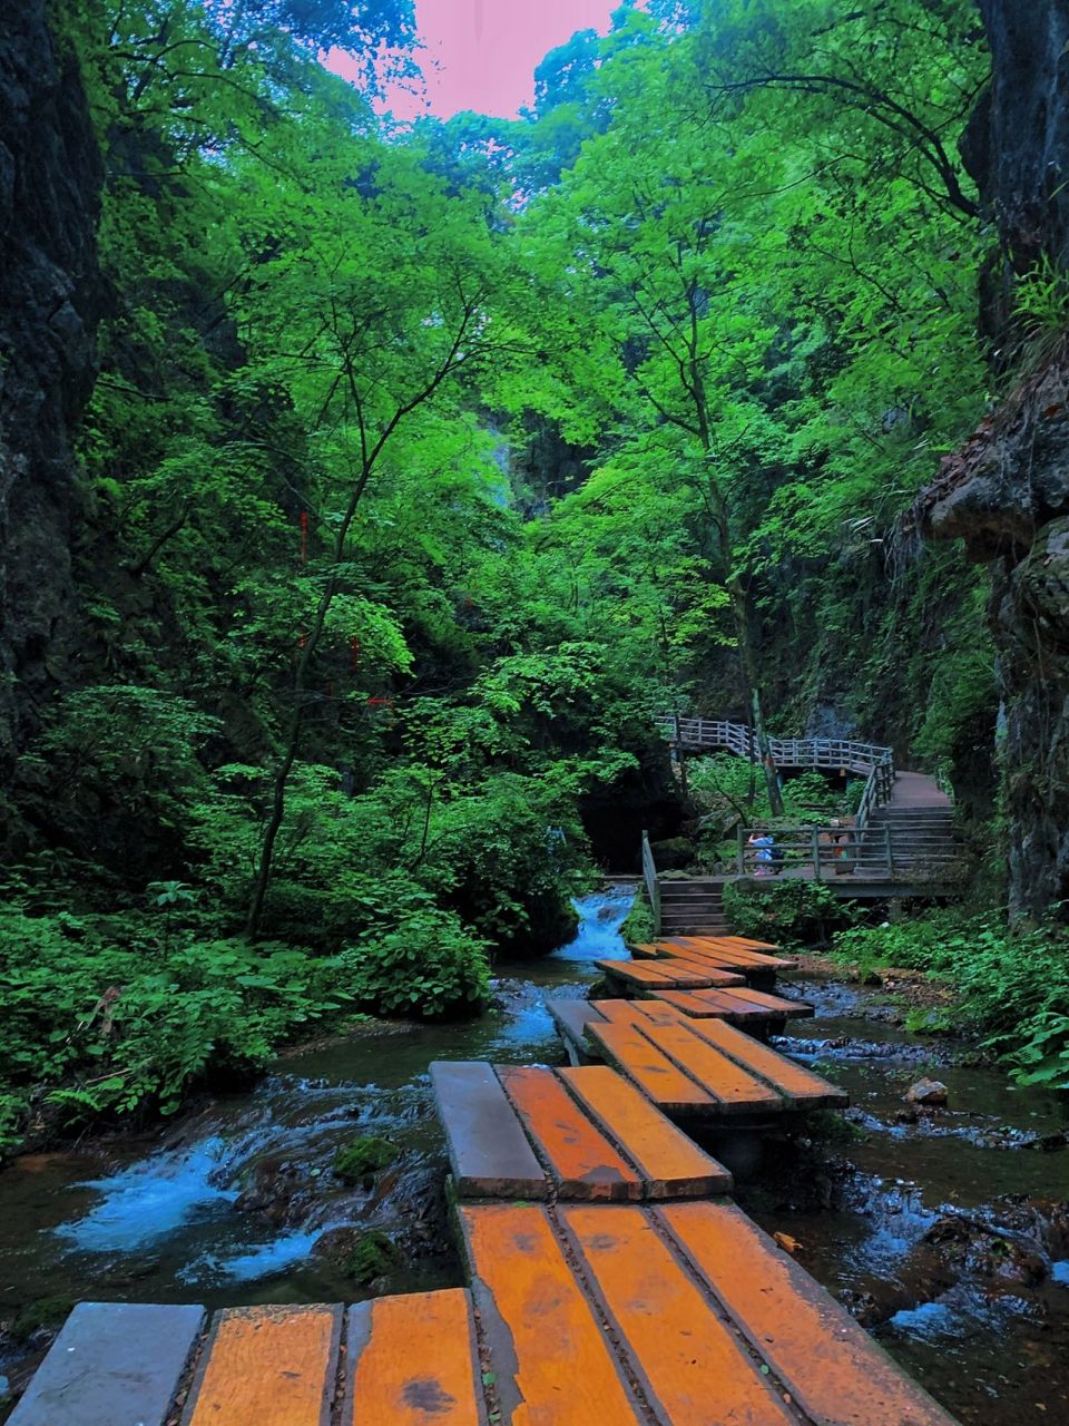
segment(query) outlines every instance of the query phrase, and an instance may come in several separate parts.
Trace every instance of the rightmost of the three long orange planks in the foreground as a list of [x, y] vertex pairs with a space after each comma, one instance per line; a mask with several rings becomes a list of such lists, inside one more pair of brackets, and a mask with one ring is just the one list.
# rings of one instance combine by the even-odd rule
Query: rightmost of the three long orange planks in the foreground
[[738, 1208], [671, 1204], [656, 1215], [807, 1416], [827, 1426], [954, 1426]]

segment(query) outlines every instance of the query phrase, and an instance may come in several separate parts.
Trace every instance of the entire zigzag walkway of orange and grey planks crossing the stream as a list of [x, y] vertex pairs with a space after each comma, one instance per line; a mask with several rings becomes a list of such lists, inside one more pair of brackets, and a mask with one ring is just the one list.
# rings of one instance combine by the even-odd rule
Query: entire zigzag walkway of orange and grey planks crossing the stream
[[[637, 964], [721, 954], [686, 940]], [[550, 1002], [623, 1072], [430, 1065], [470, 1292], [231, 1308], [207, 1336], [200, 1306], [81, 1303], [11, 1426], [954, 1426], [666, 1117], [845, 1104], [737, 1028], [811, 1007], [714, 970]]]

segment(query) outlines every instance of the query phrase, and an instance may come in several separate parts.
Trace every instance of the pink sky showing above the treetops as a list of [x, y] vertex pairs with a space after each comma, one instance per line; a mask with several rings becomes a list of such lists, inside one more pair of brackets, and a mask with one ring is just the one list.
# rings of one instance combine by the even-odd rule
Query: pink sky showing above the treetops
[[[419, 64], [426, 96], [392, 91], [398, 118], [462, 108], [515, 117], [534, 96], [534, 67], [547, 50], [576, 30], [609, 29], [619, 0], [416, 0], [416, 24], [426, 46]], [[334, 50], [328, 66], [346, 74], [346, 56]], [[351, 73], [351, 70], [349, 70]]]

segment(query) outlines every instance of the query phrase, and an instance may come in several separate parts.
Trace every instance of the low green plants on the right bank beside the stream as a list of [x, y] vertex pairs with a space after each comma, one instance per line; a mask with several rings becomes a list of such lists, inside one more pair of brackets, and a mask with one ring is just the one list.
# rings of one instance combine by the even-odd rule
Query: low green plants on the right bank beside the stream
[[995, 914], [961, 910], [835, 937], [834, 954], [862, 971], [902, 965], [928, 971], [959, 994], [949, 1017], [924, 1028], [961, 1028], [983, 1038], [1021, 1084], [1069, 1088], [1069, 940], [1065, 927], [1009, 930]]

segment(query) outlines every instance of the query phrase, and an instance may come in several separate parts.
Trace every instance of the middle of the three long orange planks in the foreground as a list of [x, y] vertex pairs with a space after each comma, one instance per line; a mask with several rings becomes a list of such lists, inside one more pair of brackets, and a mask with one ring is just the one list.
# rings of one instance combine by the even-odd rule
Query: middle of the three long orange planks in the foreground
[[560, 1218], [640, 1383], [671, 1426], [795, 1426], [647, 1211], [567, 1208]]

